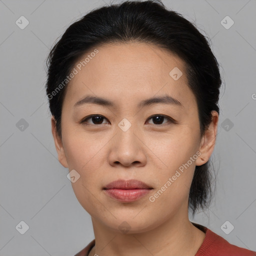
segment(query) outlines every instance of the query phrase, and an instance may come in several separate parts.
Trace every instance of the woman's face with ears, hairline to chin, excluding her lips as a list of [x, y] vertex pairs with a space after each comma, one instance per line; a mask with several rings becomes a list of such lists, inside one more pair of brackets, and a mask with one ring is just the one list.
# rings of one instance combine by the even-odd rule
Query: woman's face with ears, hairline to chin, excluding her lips
[[[97, 50], [88, 53], [83, 65], [80, 61], [88, 54], [77, 61], [77, 73], [66, 85], [62, 140], [52, 120], [59, 161], [75, 170], [71, 184], [78, 201], [94, 220], [119, 232], [123, 221], [135, 233], [187, 216], [195, 165], [208, 160], [216, 130], [200, 138], [196, 100], [183, 62], [145, 43], [105, 44]], [[86, 96], [112, 105], [75, 105]], [[175, 100], [145, 103], [164, 96]], [[92, 114], [96, 117], [88, 117]], [[136, 200], [121, 201], [103, 189], [117, 179], [137, 179], [152, 189]]]

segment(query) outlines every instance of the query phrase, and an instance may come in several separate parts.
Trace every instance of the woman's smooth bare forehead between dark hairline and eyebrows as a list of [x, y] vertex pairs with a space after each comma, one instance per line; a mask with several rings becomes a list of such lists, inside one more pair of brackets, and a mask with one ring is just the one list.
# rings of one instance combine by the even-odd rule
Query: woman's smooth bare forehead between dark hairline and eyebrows
[[[183, 61], [167, 49], [141, 42], [95, 48], [96, 54], [91, 54], [91, 49], [75, 63], [77, 74], [67, 86], [66, 95], [71, 99], [68, 101], [77, 101], [88, 93], [107, 95], [113, 101], [157, 94], [169, 94], [180, 101], [192, 97]], [[182, 75], [175, 80], [172, 70], [179, 70]]]

